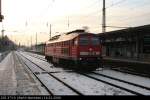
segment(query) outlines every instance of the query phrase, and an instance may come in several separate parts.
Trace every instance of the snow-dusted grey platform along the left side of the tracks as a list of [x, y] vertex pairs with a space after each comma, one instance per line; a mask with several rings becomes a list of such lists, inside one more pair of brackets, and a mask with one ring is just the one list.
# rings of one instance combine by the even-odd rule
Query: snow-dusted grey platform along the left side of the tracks
[[39, 85], [12, 52], [0, 63], [0, 95], [46, 95]]

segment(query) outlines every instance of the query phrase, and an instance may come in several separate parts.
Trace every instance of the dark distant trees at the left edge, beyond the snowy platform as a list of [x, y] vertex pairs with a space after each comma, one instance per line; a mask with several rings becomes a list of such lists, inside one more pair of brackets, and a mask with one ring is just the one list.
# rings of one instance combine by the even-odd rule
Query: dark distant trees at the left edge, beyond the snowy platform
[[16, 44], [12, 42], [7, 36], [0, 37], [0, 52], [15, 50]]

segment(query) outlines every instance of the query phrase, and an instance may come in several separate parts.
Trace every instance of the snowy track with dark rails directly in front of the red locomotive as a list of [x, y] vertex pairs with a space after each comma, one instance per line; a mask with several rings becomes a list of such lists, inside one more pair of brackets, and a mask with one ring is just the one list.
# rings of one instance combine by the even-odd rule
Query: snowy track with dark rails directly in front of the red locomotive
[[81, 75], [84, 75], [86, 77], [92, 78], [94, 80], [97, 80], [97, 81], [106, 83], [108, 85], [114, 86], [116, 88], [128, 91], [128, 92], [135, 94], [135, 95], [150, 95], [150, 90], [147, 87], [144, 87], [144, 89], [143, 89], [142, 86], [138, 86], [138, 85], [134, 86], [133, 85], [134, 83], [128, 84], [129, 82], [126, 82], [126, 81], [121, 82], [117, 79], [112, 79], [109, 76], [104, 77], [103, 75], [86, 74], [86, 73], [81, 73], [81, 72], [78, 72], [78, 73]]

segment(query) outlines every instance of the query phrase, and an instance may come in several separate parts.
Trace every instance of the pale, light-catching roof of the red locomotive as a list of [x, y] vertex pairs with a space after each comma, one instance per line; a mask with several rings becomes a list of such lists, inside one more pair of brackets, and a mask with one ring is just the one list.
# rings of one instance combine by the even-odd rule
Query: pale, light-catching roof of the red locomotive
[[47, 42], [47, 44], [69, 41], [69, 40], [72, 40], [72, 39], [78, 37], [81, 34], [83, 35], [83, 34], [92, 34], [92, 33], [87, 33], [87, 32], [83, 32], [83, 31], [65, 33], [65, 34], [60, 35], [58, 38], [51, 39], [50, 41]]

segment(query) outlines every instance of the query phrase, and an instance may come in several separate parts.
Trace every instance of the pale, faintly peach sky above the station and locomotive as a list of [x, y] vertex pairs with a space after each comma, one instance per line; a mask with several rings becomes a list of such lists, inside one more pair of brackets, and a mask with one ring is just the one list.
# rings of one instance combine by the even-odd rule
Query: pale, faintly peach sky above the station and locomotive
[[[38, 43], [46, 42], [49, 39], [47, 23], [52, 24], [52, 36], [83, 26], [88, 26], [90, 32], [101, 33], [102, 1], [2, 0], [5, 35], [17, 43], [30, 45], [31, 40], [35, 43], [37, 33]], [[106, 0], [106, 8], [108, 26], [150, 24], [150, 0]], [[111, 30], [118, 29], [107, 28]]]

